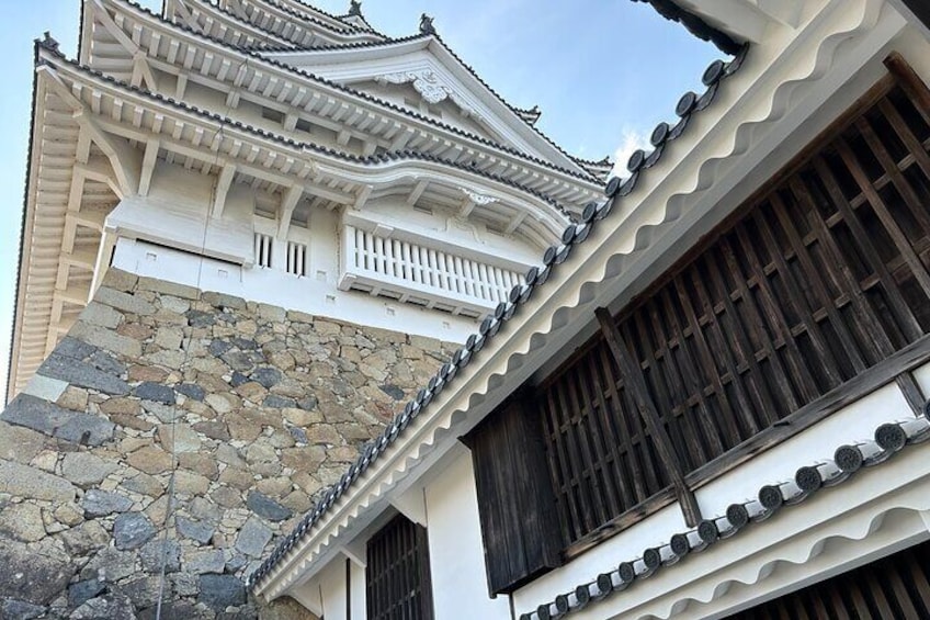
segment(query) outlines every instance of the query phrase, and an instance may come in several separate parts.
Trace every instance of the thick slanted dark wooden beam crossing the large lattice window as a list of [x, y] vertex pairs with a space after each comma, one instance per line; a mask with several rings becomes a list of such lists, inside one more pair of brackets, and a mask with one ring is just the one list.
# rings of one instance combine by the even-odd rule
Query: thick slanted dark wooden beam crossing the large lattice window
[[701, 522], [701, 508], [697, 506], [697, 499], [694, 497], [694, 493], [684, 482], [681, 460], [674, 451], [668, 431], [661, 424], [659, 410], [649, 395], [649, 387], [646, 385], [646, 377], [643, 376], [639, 362], [630, 353], [630, 349], [627, 349], [626, 343], [623, 341], [623, 336], [620, 334], [620, 329], [617, 329], [610, 312], [606, 308], [597, 308], [594, 316], [598, 318], [604, 340], [623, 375], [623, 383], [631, 398], [636, 404], [636, 408], [639, 410], [639, 415], [643, 417], [649, 435], [653, 436], [653, 443], [659, 453], [659, 459], [666, 469], [666, 473], [671, 480], [676, 497], [681, 506], [681, 512], [684, 515], [684, 522], [688, 523], [689, 528], [694, 528]]

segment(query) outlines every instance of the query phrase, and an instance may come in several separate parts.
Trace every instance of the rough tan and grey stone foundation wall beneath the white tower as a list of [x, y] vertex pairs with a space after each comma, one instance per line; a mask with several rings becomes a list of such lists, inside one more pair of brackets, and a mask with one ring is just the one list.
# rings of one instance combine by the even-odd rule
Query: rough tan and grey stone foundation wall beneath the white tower
[[0, 618], [309, 617], [242, 578], [452, 350], [111, 271], [0, 415]]

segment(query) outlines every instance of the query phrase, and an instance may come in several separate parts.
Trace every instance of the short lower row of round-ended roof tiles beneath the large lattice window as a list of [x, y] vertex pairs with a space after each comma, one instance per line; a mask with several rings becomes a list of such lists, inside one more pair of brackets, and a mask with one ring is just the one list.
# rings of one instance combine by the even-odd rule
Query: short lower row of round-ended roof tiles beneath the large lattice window
[[783, 507], [799, 504], [820, 489], [841, 484], [862, 469], [884, 463], [906, 446], [930, 439], [930, 402], [925, 408], [925, 416], [927, 419], [881, 425], [875, 429], [873, 441], [840, 446], [832, 459], [799, 467], [793, 480], [760, 487], [756, 499], [730, 504], [724, 515], [704, 519], [696, 528], [673, 534], [661, 546], [647, 548], [639, 557], [621, 562], [616, 568], [601, 573], [594, 580], [556, 596], [534, 611], [522, 613], [520, 620], [555, 620], [580, 611], [628, 589], [660, 570], [671, 567], [690, 553], [704, 551], [753, 522], [764, 521]]

